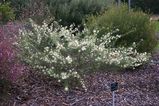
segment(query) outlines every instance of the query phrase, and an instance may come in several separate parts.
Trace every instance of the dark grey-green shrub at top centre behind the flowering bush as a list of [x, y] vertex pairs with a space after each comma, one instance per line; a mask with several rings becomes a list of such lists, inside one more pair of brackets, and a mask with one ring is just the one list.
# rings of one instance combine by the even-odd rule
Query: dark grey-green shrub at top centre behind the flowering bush
[[48, 0], [51, 13], [60, 24], [69, 26], [80, 25], [89, 14], [98, 14], [107, 8], [110, 0]]

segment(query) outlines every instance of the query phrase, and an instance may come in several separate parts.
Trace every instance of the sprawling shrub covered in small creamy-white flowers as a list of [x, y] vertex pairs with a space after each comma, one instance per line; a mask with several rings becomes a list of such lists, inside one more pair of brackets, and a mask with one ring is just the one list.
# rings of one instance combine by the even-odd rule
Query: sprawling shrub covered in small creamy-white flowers
[[114, 42], [121, 37], [111, 36], [115, 31], [98, 39], [98, 30], [91, 34], [87, 29], [82, 32], [67, 27], [53, 29], [45, 23], [38, 26], [33, 22], [32, 27], [32, 31], [20, 31], [16, 42], [21, 48], [19, 56], [33, 69], [64, 82], [65, 90], [72, 77], [79, 79], [86, 90], [82, 76], [98, 71], [101, 64], [136, 67], [149, 59], [149, 54], [138, 53], [134, 47], [113, 48]]

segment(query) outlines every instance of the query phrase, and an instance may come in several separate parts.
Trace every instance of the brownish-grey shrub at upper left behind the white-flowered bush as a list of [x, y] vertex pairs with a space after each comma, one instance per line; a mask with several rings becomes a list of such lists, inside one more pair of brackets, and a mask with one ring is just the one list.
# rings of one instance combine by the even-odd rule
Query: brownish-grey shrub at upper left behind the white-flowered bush
[[45, 0], [5, 0], [10, 2], [15, 11], [16, 19], [34, 18], [41, 23], [48, 16]]

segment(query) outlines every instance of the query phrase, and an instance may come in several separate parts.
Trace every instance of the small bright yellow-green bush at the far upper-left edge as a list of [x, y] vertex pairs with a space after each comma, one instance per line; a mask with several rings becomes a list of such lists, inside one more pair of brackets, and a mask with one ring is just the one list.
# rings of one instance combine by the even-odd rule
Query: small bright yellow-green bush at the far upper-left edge
[[15, 19], [15, 14], [9, 3], [0, 4], [0, 23], [5, 24]]

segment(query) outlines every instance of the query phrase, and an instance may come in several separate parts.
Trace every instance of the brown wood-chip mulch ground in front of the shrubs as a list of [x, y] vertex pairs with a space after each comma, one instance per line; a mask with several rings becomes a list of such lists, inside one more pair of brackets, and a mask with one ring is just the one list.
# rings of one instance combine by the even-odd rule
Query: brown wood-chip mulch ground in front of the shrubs
[[135, 70], [98, 72], [85, 77], [88, 91], [65, 92], [55, 80], [30, 72], [12, 88], [1, 106], [112, 106], [110, 84], [119, 83], [116, 106], [159, 106], [159, 55]]

